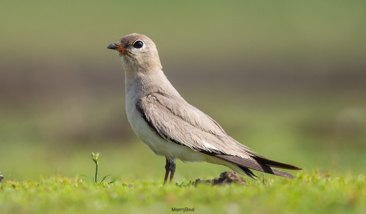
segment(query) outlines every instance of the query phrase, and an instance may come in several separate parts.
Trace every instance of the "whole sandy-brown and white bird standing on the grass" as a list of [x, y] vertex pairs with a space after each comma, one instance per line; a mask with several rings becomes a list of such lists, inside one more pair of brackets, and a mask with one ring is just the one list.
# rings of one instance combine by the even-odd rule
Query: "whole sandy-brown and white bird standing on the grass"
[[136, 135], [156, 154], [165, 156], [165, 177], [175, 172], [175, 159], [221, 164], [239, 174], [257, 177], [250, 169], [287, 178], [275, 168], [301, 170], [257, 155], [225, 133], [211, 117], [188, 104], [164, 75], [151, 39], [132, 33], [107, 48], [122, 57], [126, 113]]

